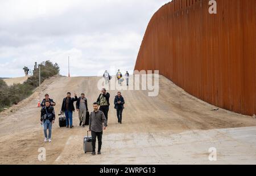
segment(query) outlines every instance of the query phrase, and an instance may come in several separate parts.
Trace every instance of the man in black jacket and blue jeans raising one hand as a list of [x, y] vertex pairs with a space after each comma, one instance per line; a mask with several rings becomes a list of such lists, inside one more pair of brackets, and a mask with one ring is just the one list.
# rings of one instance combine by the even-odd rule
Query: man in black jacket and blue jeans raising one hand
[[66, 127], [73, 128], [73, 111], [75, 111], [74, 102], [77, 101], [77, 96], [75, 93], [75, 98], [71, 98], [71, 93], [67, 93], [67, 97], [63, 99], [61, 106], [61, 113], [65, 113], [66, 116]]

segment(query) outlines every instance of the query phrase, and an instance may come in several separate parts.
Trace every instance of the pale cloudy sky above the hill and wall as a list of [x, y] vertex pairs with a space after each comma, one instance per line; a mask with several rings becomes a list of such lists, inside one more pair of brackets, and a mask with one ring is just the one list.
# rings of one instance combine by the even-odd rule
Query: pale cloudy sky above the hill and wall
[[[0, 0], [0, 77], [34, 62], [67, 75], [132, 71], [151, 16], [170, 0]], [[114, 74], [114, 73], [112, 73]]]

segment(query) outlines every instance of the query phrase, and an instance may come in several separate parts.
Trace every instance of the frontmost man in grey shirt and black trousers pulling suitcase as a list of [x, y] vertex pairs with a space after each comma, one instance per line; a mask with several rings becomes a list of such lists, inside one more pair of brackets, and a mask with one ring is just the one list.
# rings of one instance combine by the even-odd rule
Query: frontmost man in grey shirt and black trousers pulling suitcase
[[90, 113], [89, 131], [92, 132], [92, 154], [96, 154], [96, 138], [98, 138], [98, 154], [101, 154], [102, 134], [106, 130], [108, 122], [104, 113], [98, 110], [98, 103], [94, 102], [93, 112]]

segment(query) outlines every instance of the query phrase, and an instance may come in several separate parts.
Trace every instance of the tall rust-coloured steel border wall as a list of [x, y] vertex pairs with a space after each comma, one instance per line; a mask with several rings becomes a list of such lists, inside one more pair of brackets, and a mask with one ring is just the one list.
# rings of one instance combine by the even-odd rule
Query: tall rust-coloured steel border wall
[[256, 114], [256, 0], [176, 0], [152, 16], [135, 70], [159, 70], [193, 96]]

